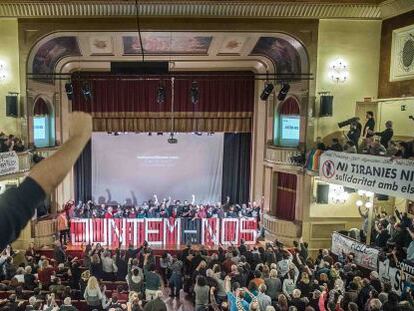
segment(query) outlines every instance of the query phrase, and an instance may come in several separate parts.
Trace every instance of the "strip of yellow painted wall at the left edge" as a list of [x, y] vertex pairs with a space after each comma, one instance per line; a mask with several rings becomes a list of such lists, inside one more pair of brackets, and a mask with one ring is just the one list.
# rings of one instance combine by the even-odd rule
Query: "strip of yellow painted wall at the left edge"
[[6, 64], [7, 78], [0, 81], [0, 131], [20, 136], [18, 118], [6, 117], [6, 95], [19, 92], [19, 46], [17, 19], [0, 18], [0, 61]]

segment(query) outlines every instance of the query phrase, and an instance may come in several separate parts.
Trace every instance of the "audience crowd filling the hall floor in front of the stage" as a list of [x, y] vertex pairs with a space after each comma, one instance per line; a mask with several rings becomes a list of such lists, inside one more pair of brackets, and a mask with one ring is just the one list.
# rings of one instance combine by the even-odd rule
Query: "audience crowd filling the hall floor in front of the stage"
[[183, 300], [196, 311], [414, 310], [410, 282], [399, 295], [377, 272], [361, 270], [352, 253], [335, 259], [323, 249], [311, 258], [306, 242], [294, 245], [187, 245], [156, 256], [146, 243], [115, 251], [96, 244], [72, 258], [57, 241], [53, 258], [31, 246], [20, 263], [8, 247], [0, 293], [9, 296], [0, 310], [163, 311]]

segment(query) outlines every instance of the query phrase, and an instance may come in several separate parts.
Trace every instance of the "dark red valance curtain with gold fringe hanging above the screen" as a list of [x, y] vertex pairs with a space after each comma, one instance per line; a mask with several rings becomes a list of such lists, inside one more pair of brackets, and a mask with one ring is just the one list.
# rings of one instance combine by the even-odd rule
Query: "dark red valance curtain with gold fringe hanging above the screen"
[[[132, 76], [108, 76], [105, 73], [79, 78], [74, 77], [72, 110], [90, 112], [95, 131], [165, 132], [174, 131], [250, 132], [254, 108], [254, 76], [227, 73], [233, 77], [214, 76], [214, 73], [177, 73], [174, 81], [174, 106], [170, 79], [161, 82], [166, 92], [163, 104], [156, 102], [157, 88], [162, 77], [151, 76], [145, 80]], [[206, 76], [207, 75], [207, 76]], [[81, 91], [87, 83], [92, 99]], [[192, 81], [198, 83], [199, 102], [191, 103]]]

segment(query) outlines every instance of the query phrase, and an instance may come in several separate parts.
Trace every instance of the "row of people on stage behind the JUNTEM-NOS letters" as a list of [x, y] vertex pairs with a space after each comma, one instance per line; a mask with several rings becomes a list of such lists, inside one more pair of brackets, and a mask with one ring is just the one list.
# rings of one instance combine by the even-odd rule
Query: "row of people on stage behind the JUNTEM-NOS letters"
[[260, 217], [261, 204], [249, 202], [247, 204], [230, 204], [230, 198], [222, 204], [197, 204], [195, 196], [191, 202], [175, 200], [171, 198], [159, 201], [157, 196], [140, 205], [125, 203], [120, 204], [96, 204], [93, 201], [86, 203], [74, 201], [66, 204], [68, 218], [238, 218]]

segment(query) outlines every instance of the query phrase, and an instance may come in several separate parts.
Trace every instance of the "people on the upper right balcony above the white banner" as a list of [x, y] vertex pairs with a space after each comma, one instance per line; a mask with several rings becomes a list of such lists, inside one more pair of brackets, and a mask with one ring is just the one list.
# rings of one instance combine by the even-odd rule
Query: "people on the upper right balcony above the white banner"
[[332, 138], [331, 144], [326, 146], [320, 137], [317, 138], [316, 148], [319, 150], [333, 150], [347, 153], [362, 153], [395, 158], [409, 159], [414, 157], [414, 141], [394, 141], [393, 122], [385, 122], [385, 130], [375, 132], [374, 113], [366, 113], [364, 127], [359, 118], [352, 118], [346, 139], [341, 142]]

